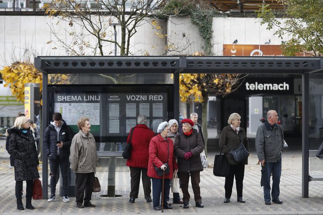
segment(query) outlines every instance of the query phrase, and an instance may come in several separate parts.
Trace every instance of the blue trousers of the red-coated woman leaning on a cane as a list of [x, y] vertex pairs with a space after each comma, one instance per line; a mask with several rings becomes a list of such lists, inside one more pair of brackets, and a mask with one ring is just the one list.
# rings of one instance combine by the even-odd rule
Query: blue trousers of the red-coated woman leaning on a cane
[[[153, 182], [153, 205], [154, 207], [161, 205], [161, 190], [162, 190], [162, 179], [151, 178]], [[170, 179], [164, 179], [164, 205], [167, 205], [167, 197], [169, 196], [169, 183]], [[161, 201], [160, 201], [161, 200]]]

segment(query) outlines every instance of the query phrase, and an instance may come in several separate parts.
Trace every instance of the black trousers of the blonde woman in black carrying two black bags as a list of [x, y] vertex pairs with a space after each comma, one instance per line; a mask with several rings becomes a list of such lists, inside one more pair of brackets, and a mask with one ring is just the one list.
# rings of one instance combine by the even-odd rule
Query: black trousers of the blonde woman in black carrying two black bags
[[230, 198], [232, 194], [233, 179], [235, 176], [235, 186], [237, 189], [237, 197], [242, 197], [243, 177], [245, 175], [245, 165], [230, 165], [230, 174], [226, 177], [224, 189], [226, 190], [226, 198]]

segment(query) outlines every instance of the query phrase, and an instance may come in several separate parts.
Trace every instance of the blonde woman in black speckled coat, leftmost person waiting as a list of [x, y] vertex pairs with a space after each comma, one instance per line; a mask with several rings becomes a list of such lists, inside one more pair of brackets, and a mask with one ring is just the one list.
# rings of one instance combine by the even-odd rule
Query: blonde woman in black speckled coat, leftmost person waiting
[[24, 210], [22, 193], [23, 181], [26, 181], [26, 208], [33, 210], [31, 204], [33, 180], [39, 178], [37, 166], [39, 165], [35, 140], [30, 129], [28, 118], [17, 117], [14, 127], [8, 129], [8, 152], [15, 158], [15, 180], [17, 209]]

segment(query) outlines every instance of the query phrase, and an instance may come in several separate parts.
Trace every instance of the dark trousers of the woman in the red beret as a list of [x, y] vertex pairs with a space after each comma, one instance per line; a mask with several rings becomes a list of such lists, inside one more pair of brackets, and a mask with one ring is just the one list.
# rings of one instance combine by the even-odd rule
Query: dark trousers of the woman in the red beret
[[181, 172], [179, 177], [182, 182], [181, 188], [183, 192], [183, 202], [189, 202], [190, 195], [188, 193], [189, 175], [191, 175], [191, 184], [194, 193], [195, 202], [202, 202], [200, 190], [200, 171]]

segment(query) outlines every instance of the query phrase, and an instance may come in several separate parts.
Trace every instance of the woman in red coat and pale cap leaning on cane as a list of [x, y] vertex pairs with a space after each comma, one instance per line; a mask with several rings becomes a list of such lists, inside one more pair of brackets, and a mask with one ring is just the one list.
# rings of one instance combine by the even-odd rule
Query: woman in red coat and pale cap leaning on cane
[[[169, 125], [167, 122], [162, 122], [157, 129], [157, 136], [153, 137], [149, 146], [149, 161], [148, 161], [148, 176], [153, 181], [153, 206], [154, 210], [160, 211], [160, 202], [163, 201], [163, 209], [173, 209], [167, 203], [169, 195], [169, 183], [173, 177], [173, 171], [177, 172], [178, 167], [174, 155], [173, 141], [167, 137]], [[164, 174], [164, 198], [161, 199], [162, 191], [162, 176], [159, 176], [155, 167], [166, 170], [168, 164], [169, 173]], [[160, 201], [161, 199], [161, 201]]]

